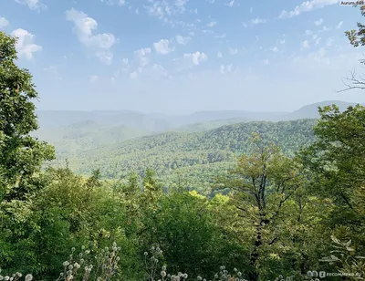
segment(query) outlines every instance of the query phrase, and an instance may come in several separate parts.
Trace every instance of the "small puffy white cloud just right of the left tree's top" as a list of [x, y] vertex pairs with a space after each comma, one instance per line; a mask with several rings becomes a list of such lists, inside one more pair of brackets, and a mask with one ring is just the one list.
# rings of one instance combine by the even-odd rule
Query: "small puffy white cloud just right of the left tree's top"
[[22, 28], [14, 30], [11, 35], [18, 38], [16, 43], [16, 51], [18, 52], [19, 57], [31, 59], [33, 57], [33, 53], [42, 50], [41, 46], [34, 43], [36, 36]]

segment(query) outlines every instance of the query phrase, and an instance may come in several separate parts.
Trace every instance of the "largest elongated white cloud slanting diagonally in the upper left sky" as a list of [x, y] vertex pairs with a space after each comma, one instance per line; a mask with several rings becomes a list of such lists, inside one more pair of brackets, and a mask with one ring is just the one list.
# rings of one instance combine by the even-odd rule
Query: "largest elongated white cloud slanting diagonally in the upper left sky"
[[113, 57], [110, 48], [116, 43], [116, 37], [111, 33], [93, 35], [93, 30], [98, 28], [97, 21], [74, 8], [66, 11], [66, 18], [73, 22], [78, 40], [86, 47], [93, 48], [100, 61], [110, 64]]

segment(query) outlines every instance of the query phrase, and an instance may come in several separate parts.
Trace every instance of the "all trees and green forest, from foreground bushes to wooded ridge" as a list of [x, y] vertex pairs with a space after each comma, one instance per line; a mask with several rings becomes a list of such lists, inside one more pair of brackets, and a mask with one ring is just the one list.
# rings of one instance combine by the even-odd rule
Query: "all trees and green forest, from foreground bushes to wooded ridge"
[[0, 280], [365, 277], [365, 107], [91, 145], [57, 167], [16, 60], [0, 32]]

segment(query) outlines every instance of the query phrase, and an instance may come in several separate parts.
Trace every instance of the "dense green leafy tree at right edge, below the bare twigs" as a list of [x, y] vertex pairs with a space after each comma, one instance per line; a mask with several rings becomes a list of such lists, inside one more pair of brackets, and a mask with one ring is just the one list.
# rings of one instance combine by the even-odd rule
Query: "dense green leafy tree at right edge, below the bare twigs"
[[339, 239], [365, 245], [365, 107], [340, 112], [333, 105], [319, 113], [317, 140], [299, 153], [312, 193], [335, 203], [328, 221]]

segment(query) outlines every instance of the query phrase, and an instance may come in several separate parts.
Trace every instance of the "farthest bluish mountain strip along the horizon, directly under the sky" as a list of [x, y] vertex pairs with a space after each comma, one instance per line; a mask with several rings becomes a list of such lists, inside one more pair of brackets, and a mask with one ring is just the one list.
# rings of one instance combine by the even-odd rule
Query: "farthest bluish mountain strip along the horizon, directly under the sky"
[[293, 112], [251, 112], [244, 110], [217, 110], [198, 111], [193, 114], [171, 116], [161, 113], [142, 113], [130, 110], [95, 110], [95, 111], [68, 111], [68, 110], [38, 110], [38, 122], [41, 129], [65, 127], [75, 123], [92, 121], [105, 127], [124, 125], [137, 130], [166, 131], [175, 130], [179, 127], [210, 122], [216, 120], [239, 121], [279, 121], [318, 118], [318, 106], [335, 103], [339, 109], [347, 109], [349, 103], [339, 100], [327, 100], [310, 104]]

